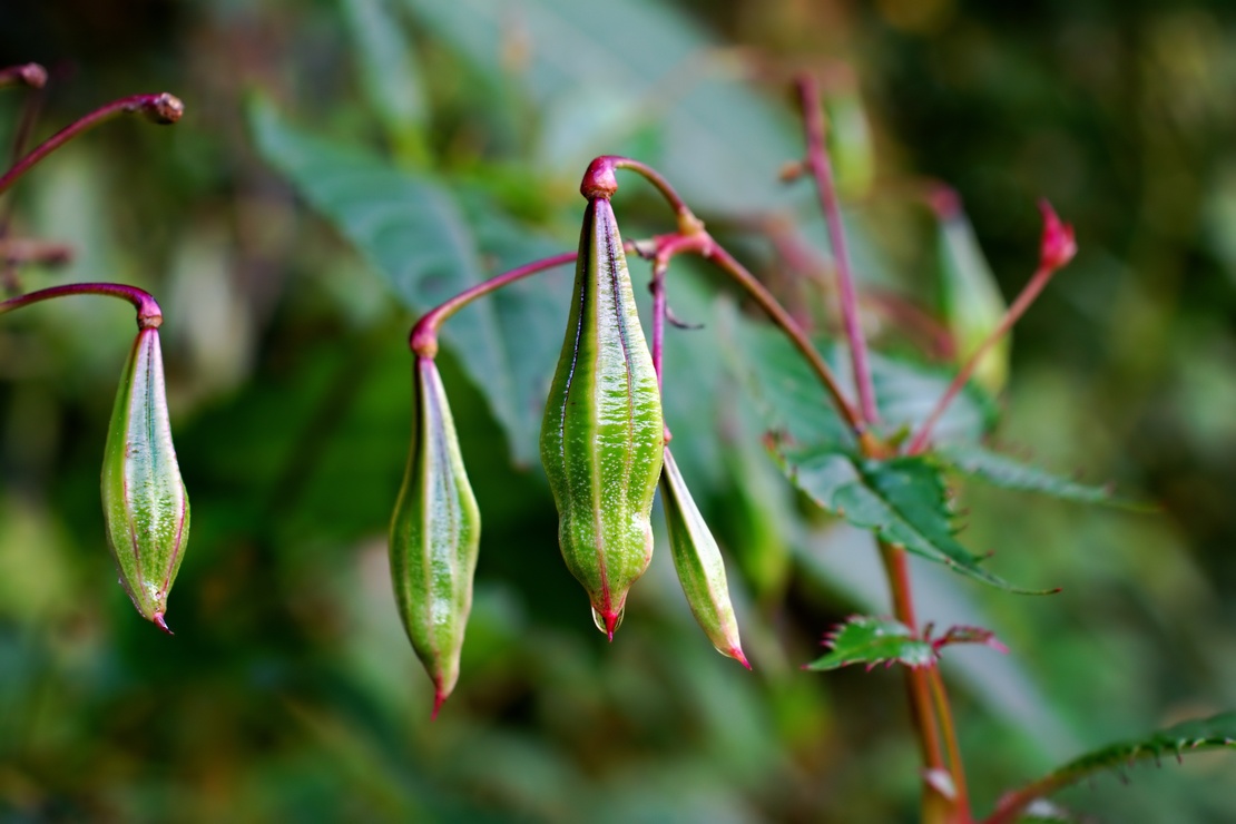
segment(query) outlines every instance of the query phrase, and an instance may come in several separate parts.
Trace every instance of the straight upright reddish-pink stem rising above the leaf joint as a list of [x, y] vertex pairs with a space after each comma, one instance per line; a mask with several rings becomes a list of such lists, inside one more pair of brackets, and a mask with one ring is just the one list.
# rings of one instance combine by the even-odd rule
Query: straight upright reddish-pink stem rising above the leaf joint
[[850, 363], [854, 369], [854, 384], [858, 387], [858, 404], [863, 420], [868, 424], [879, 421], [875, 405], [875, 385], [871, 380], [871, 367], [866, 357], [866, 340], [863, 337], [863, 325], [858, 314], [858, 294], [854, 290], [854, 272], [850, 267], [849, 250], [845, 245], [845, 229], [842, 226], [842, 211], [837, 201], [837, 185], [833, 182], [833, 166], [824, 146], [824, 111], [819, 105], [819, 89], [815, 78], [798, 78], [798, 98], [802, 103], [802, 121], [807, 137], [806, 166], [816, 179], [819, 193], [819, 208], [828, 225], [828, 242], [833, 247], [837, 262], [837, 294], [842, 304], [842, 326], [849, 346]]

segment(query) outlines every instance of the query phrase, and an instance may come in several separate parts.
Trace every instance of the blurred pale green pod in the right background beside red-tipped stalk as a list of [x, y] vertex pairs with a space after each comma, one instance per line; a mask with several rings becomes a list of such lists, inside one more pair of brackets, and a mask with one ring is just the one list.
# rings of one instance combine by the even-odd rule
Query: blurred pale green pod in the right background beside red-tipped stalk
[[[988, 266], [974, 227], [950, 193], [939, 201], [941, 294], [957, 363], [965, 363], [1004, 317], [1007, 305]], [[1010, 338], [996, 341], [974, 371], [974, 380], [999, 394], [1009, 380]]]

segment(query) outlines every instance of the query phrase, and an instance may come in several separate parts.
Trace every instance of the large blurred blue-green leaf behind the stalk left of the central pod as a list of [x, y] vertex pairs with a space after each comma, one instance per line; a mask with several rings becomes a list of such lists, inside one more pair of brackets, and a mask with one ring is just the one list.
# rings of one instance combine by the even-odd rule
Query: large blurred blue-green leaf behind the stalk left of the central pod
[[[266, 159], [414, 311], [496, 273], [482, 266], [482, 256], [503, 266], [517, 257], [525, 263], [534, 259], [533, 252], [546, 250], [546, 241], [525, 236], [482, 200], [461, 203], [428, 175], [400, 172], [363, 149], [294, 130], [268, 104], [253, 105], [250, 121]], [[531, 462], [536, 452], [570, 292], [549, 288], [546, 277], [552, 278], [541, 275], [541, 283], [517, 284], [467, 306], [441, 332], [485, 394], [519, 463]], [[554, 316], [559, 320], [550, 322]]]

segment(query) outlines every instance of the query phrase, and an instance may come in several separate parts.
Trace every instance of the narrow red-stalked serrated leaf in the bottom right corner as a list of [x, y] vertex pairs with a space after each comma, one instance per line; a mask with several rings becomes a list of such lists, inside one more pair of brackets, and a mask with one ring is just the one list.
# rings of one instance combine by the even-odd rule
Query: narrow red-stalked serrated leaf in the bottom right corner
[[1088, 752], [1022, 789], [1005, 796], [988, 822], [995, 824], [1014, 820], [1018, 812], [1027, 809], [1036, 799], [1103, 770], [1115, 770], [1143, 759], [1158, 761], [1164, 755], [1180, 759], [1190, 752], [1214, 749], [1236, 750], [1236, 712], [1182, 721], [1142, 739], [1121, 741]]

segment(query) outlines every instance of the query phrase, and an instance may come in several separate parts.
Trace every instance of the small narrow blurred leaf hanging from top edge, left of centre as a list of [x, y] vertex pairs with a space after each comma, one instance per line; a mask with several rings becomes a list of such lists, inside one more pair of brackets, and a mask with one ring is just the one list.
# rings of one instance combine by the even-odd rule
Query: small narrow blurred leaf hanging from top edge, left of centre
[[392, 0], [344, 0], [344, 22], [361, 88], [394, 143], [413, 161], [423, 159], [420, 127], [428, 119], [412, 41], [402, 30]]

